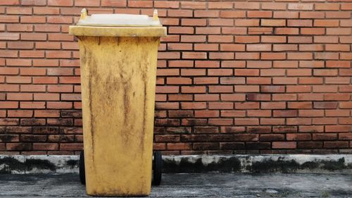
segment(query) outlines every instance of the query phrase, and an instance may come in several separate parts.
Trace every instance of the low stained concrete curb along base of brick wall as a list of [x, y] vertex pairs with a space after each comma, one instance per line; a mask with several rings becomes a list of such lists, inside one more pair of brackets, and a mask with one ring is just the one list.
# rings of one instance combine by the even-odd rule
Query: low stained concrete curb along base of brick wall
[[[0, 155], [0, 173], [78, 173], [78, 156]], [[165, 173], [344, 173], [352, 154], [163, 156]]]

